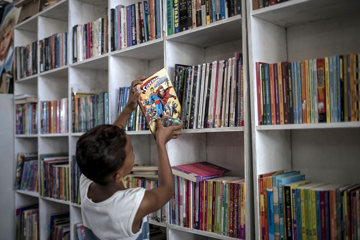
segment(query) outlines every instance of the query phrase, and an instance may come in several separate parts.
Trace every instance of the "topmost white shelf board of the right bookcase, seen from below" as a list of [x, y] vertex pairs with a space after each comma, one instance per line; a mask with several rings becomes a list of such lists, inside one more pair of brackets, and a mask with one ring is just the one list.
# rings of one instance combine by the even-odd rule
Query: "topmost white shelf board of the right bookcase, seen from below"
[[251, 11], [253, 16], [289, 27], [341, 15], [357, 14], [358, 0], [289, 0]]

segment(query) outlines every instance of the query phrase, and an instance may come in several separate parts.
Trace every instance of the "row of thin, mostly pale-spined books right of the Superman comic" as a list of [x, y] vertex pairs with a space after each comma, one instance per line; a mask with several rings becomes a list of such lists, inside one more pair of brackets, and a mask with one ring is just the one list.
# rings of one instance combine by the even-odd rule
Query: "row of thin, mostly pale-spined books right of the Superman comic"
[[175, 64], [174, 89], [181, 112], [165, 112], [182, 119], [184, 128], [243, 126], [242, 55], [197, 66]]

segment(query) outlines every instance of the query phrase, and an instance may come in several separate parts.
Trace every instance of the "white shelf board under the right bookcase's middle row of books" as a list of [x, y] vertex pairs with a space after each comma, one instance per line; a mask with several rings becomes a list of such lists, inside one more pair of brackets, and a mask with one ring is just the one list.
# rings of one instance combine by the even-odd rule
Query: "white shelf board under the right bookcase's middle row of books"
[[308, 123], [308, 124], [283, 124], [283, 125], [257, 125], [256, 130], [285, 130], [285, 129], [328, 129], [328, 128], [354, 128], [360, 127], [359, 121]]

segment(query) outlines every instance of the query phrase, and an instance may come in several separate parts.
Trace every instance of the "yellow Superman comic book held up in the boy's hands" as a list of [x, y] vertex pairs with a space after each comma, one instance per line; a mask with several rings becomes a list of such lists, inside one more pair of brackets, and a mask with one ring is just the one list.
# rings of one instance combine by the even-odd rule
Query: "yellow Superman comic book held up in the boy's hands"
[[133, 91], [140, 90], [138, 104], [156, 140], [156, 118], [166, 114], [180, 119], [181, 106], [175, 90], [165, 68], [153, 73], [133, 87]]

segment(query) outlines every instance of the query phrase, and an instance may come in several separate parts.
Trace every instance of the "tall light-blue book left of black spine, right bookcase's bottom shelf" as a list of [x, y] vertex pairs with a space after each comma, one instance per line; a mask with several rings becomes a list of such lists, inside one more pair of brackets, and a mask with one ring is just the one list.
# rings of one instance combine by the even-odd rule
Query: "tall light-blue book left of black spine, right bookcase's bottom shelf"
[[304, 174], [291, 175], [277, 180], [278, 190], [278, 205], [279, 205], [279, 225], [280, 225], [280, 240], [285, 239], [285, 225], [284, 225], [284, 199], [283, 199], [283, 188], [284, 184], [288, 184], [294, 181], [301, 181], [305, 179]]

